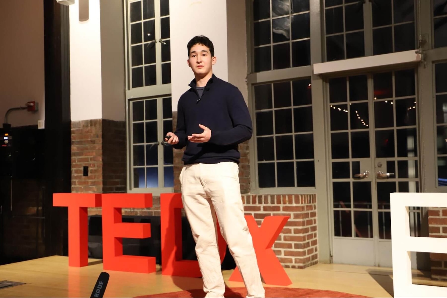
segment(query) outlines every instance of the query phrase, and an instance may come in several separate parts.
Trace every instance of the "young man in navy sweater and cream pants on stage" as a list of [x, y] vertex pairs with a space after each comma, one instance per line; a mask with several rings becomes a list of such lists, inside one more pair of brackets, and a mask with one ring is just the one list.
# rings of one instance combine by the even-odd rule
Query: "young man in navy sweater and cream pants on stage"
[[177, 130], [165, 140], [176, 149], [186, 146], [180, 174], [182, 201], [196, 242], [205, 297], [223, 297], [225, 292], [216, 215], [247, 297], [265, 297], [239, 185], [237, 147], [252, 136], [249, 110], [240, 91], [213, 74], [216, 57], [207, 37], [191, 39], [188, 56], [195, 79], [178, 101]]

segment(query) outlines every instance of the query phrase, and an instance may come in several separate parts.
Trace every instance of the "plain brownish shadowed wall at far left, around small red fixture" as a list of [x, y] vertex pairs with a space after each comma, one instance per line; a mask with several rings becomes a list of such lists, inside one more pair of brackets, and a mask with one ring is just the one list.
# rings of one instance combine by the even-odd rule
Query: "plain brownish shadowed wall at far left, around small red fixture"
[[8, 116], [12, 126], [37, 125], [45, 119], [43, 1], [0, 1], [0, 45], [0, 123], [9, 108], [37, 101], [38, 112]]

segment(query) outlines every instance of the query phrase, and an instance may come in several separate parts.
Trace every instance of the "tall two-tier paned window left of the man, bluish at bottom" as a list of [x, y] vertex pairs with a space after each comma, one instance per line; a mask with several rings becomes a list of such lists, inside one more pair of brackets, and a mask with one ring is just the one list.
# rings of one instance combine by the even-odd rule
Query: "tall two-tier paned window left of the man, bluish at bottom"
[[[127, 0], [128, 191], [173, 188], [169, 0]], [[146, 190], [145, 190], [146, 189]]]

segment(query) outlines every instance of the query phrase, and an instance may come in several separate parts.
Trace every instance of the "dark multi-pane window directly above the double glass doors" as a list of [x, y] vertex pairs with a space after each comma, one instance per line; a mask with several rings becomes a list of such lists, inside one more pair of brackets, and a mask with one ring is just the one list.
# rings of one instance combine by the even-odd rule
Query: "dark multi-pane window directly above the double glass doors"
[[414, 18], [415, 0], [325, 0], [326, 61], [414, 50]]

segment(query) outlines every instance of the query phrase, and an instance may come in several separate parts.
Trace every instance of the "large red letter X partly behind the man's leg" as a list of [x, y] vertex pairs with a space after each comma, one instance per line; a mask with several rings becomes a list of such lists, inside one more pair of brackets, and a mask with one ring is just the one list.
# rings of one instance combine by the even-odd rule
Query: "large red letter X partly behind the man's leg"
[[[245, 220], [253, 238], [259, 271], [267, 285], [290, 285], [292, 282], [287, 276], [281, 263], [272, 250], [273, 243], [283, 230], [289, 216], [266, 216], [260, 228], [253, 216], [246, 215]], [[230, 281], [242, 281], [239, 269], [233, 271]]]

